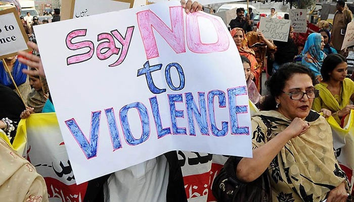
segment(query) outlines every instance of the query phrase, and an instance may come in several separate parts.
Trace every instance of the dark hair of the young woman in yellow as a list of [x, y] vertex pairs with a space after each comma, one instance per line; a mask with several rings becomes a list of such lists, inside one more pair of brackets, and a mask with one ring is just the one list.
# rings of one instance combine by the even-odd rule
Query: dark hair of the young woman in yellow
[[325, 58], [321, 67], [323, 81], [329, 80], [329, 73], [331, 73], [340, 63], [346, 63], [346, 59], [339, 54], [330, 54]]

